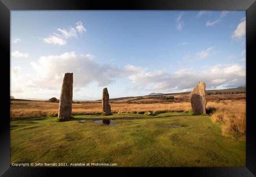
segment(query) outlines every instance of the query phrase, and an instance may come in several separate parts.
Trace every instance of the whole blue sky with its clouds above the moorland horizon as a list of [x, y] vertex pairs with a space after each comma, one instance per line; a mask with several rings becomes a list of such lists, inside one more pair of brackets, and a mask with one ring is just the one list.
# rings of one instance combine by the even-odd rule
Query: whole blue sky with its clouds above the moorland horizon
[[245, 85], [246, 11], [11, 11], [15, 98], [142, 96]]

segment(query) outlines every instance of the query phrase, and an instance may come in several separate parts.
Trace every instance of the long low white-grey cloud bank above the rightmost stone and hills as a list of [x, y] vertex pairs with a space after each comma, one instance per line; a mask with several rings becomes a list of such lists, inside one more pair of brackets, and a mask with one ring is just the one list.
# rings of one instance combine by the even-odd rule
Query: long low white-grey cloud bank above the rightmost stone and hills
[[235, 65], [216, 65], [208, 70], [182, 70], [169, 74], [163, 70], [141, 72], [129, 76], [129, 79], [144, 87], [155, 85], [148, 90], [157, 92], [175, 92], [184, 89], [191, 90], [198, 81], [206, 83], [207, 88], [216, 88], [221, 85], [236, 87], [245, 82], [245, 68]]

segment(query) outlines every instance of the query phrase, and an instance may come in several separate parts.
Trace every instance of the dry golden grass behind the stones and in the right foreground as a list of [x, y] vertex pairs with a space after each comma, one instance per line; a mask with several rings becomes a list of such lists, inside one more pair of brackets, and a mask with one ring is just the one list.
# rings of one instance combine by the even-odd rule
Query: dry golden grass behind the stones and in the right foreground
[[[58, 116], [58, 103], [36, 101], [11, 101], [11, 118], [27, 118], [41, 116]], [[111, 103], [112, 113], [154, 113], [188, 112], [191, 111], [189, 102], [182, 103], [153, 103], [127, 104]], [[208, 101], [206, 109], [210, 111], [213, 122], [223, 124], [223, 135], [245, 140], [246, 135], [246, 102], [245, 100]], [[101, 114], [101, 103], [72, 104], [72, 115]]]

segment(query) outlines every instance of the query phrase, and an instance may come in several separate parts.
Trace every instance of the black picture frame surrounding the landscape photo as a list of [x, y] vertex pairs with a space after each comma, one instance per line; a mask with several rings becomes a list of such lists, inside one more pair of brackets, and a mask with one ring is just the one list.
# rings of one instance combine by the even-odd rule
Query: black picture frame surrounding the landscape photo
[[[249, 81], [254, 74], [254, 46], [256, 41], [256, 2], [255, 0], [127, 0], [127, 1], [98, 1], [98, 0], [0, 0], [0, 45], [1, 61], [4, 63], [2, 68], [10, 65], [10, 11], [11, 10], [246, 10], [246, 109], [247, 109], [247, 135], [246, 135], [246, 167], [239, 168], [104, 168], [104, 173], [110, 170], [116, 170], [117, 174], [131, 173], [130, 169], [143, 169], [148, 172], [159, 174], [160, 170], [165, 170], [167, 174], [179, 175], [187, 174], [189, 176], [230, 176], [230, 177], [250, 177], [256, 175], [256, 141], [254, 128], [253, 101], [255, 87]], [[10, 69], [10, 68], [9, 68]], [[2, 89], [8, 92], [7, 83], [10, 80], [2, 72], [4, 83]], [[9, 90], [10, 91], [10, 90]], [[2, 92], [4, 93], [4, 92]], [[2, 94], [6, 102], [9, 101], [8, 94]], [[73, 170], [83, 172], [88, 171], [96, 173], [102, 168], [29, 168], [29, 167], [10, 167], [10, 126], [8, 103], [3, 103], [1, 123], [0, 123], [0, 175], [6, 176], [53, 176], [62, 171], [63, 174], [74, 174]], [[113, 173], [113, 171], [111, 172]]]

